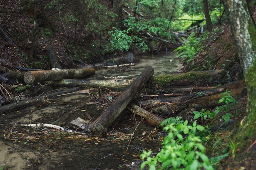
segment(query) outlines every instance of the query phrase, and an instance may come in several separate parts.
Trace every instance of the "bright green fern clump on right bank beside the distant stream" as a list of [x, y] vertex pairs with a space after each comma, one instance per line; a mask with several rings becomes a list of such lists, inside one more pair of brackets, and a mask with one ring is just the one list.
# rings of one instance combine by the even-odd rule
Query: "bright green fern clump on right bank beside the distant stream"
[[183, 41], [184, 45], [178, 47], [174, 51], [177, 51], [177, 55], [187, 59], [187, 63], [193, 60], [198, 52], [199, 41], [196, 39], [195, 33], [191, 33], [187, 39]]

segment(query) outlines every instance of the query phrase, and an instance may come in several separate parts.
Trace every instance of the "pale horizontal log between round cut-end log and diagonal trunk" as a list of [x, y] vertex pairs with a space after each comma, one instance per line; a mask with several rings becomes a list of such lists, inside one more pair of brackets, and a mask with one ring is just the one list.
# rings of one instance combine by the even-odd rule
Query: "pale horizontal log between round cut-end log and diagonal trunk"
[[131, 79], [106, 79], [106, 80], [85, 80], [85, 79], [62, 79], [52, 81], [52, 85], [57, 86], [90, 86], [90, 87], [108, 87], [123, 88], [129, 86], [135, 78]]

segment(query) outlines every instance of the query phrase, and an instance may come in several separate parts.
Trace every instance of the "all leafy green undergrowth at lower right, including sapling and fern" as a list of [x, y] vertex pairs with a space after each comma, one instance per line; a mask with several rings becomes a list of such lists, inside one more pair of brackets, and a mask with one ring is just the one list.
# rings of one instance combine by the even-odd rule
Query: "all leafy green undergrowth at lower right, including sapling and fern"
[[[168, 132], [164, 137], [162, 143], [163, 148], [155, 157], [151, 157], [152, 151], [143, 151], [141, 158], [144, 162], [141, 164], [141, 170], [148, 165], [149, 170], [213, 170], [221, 159], [227, 157], [229, 154], [236, 155], [237, 144], [229, 140], [229, 148], [231, 150], [222, 151], [222, 154], [213, 156], [210, 159], [205, 155], [204, 142], [210, 141], [209, 127], [197, 124], [196, 119], [201, 120], [214, 119], [216, 115], [222, 110], [224, 114], [222, 119], [225, 122], [230, 120], [233, 115], [229, 113], [232, 106], [235, 107], [235, 116], [237, 116], [237, 101], [230, 95], [230, 91], [221, 93], [222, 97], [219, 103], [223, 105], [216, 107], [216, 110], [202, 109], [201, 111], [194, 111], [194, 122], [192, 125], [188, 124], [188, 120], [182, 120], [181, 117], [170, 117], [162, 121], [160, 126], [164, 126], [163, 130]], [[216, 137], [215, 137], [216, 138]], [[211, 139], [212, 140], [212, 139]], [[216, 138], [216, 141], [218, 139]], [[217, 144], [215, 147], [218, 147]]]

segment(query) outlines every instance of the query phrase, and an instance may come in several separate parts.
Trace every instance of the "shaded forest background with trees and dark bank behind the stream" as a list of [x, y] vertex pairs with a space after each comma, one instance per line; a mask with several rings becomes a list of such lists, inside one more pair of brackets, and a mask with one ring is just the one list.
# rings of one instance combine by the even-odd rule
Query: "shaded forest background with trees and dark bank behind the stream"
[[[221, 1], [208, 4], [215, 27], [211, 42], [195, 44], [201, 50], [229, 30], [222, 27], [226, 19]], [[194, 26], [199, 26], [195, 29], [201, 25], [207, 28], [204, 9], [199, 0], [190, 3], [184, 0], [3, 0], [0, 2], [0, 25], [14, 44], [0, 37], [1, 62], [51, 69], [49, 48], [56, 53], [63, 68], [86, 67], [124, 57], [127, 52], [171, 52], [181, 45], [182, 38], [177, 39], [177, 34], [186, 33]], [[204, 31], [202, 36], [210, 36], [209, 31]], [[204, 54], [205, 51], [200, 55]], [[201, 69], [220, 67], [223, 63]]]

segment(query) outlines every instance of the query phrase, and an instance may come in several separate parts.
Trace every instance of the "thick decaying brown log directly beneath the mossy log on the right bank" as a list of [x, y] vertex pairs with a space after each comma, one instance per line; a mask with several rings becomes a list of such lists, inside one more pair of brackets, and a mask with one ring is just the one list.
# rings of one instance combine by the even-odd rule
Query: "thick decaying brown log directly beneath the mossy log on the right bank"
[[246, 84], [244, 80], [238, 81], [233, 84], [225, 85], [224, 87], [224, 89], [223, 87], [220, 87], [220, 89], [223, 89], [222, 91], [217, 91], [208, 95], [200, 95], [192, 99], [182, 98], [182, 100], [176, 102], [155, 103], [153, 111], [154, 113], [174, 114], [185, 108], [195, 108], [199, 110], [201, 108], [214, 108], [216, 106], [222, 105], [222, 103], [219, 103], [218, 101], [222, 97], [221, 93], [225, 92], [226, 89], [230, 91], [230, 95], [236, 100], [242, 98], [247, 94]]

